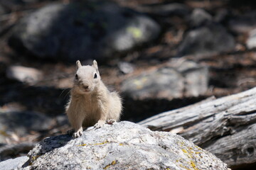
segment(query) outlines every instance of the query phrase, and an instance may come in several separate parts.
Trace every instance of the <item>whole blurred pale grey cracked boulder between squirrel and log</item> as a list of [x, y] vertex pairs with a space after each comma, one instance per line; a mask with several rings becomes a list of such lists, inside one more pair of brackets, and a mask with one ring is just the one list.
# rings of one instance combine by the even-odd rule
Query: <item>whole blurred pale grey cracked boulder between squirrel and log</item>
[[132, 98], [181, 98], [199, 96], [208, 89], [208, 68], [191, 61], [174, 61], [169, 66], [124, 80], [122, 91]]

